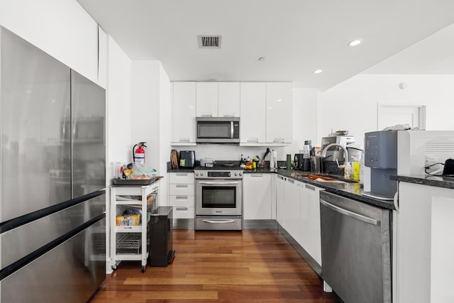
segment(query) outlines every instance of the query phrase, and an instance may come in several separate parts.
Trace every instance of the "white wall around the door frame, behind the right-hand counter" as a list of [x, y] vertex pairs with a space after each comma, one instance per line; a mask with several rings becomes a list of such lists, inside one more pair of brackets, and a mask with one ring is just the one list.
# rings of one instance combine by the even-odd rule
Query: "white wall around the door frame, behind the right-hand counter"
[[[399, 83], [406, 89], [399, 89]], [[357, 142], [377, 131], [377, 103], [426, 105], [427, 130], [454, 130], [454, 75], [356, 75], [319, 92], [317, 133], [350, 131]]]

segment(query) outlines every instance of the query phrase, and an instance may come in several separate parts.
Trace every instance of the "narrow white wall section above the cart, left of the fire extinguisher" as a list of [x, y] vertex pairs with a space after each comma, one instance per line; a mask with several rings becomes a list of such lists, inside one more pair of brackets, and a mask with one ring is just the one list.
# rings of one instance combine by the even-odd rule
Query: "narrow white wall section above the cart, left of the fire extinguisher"
[[113, 162], [131, 162], [131, 60], [111, 36], [107, 50], [107, 175], [113, 177]]

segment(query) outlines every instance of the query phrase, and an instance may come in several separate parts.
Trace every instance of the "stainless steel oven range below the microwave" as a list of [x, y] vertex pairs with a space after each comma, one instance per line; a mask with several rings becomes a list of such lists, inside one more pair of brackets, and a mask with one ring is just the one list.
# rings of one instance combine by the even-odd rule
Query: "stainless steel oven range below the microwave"
[[243, 230], [243, 170], [196, 167], [195, 229]]

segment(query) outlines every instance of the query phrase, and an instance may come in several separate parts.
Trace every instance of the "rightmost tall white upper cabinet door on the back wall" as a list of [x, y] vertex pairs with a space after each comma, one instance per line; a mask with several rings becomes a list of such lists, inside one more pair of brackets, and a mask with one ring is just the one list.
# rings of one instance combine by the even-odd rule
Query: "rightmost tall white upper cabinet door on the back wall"
[[266, 84], [266, 142], [292, 143], [292, 83]]

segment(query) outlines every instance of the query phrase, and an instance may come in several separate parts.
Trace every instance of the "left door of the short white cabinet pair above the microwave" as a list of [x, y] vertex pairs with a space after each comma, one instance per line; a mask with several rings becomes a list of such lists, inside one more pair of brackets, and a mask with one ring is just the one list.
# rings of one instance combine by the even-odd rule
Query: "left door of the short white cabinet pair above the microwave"
[[197, 116], [218, 116], [218, 82], [196, 82]]

